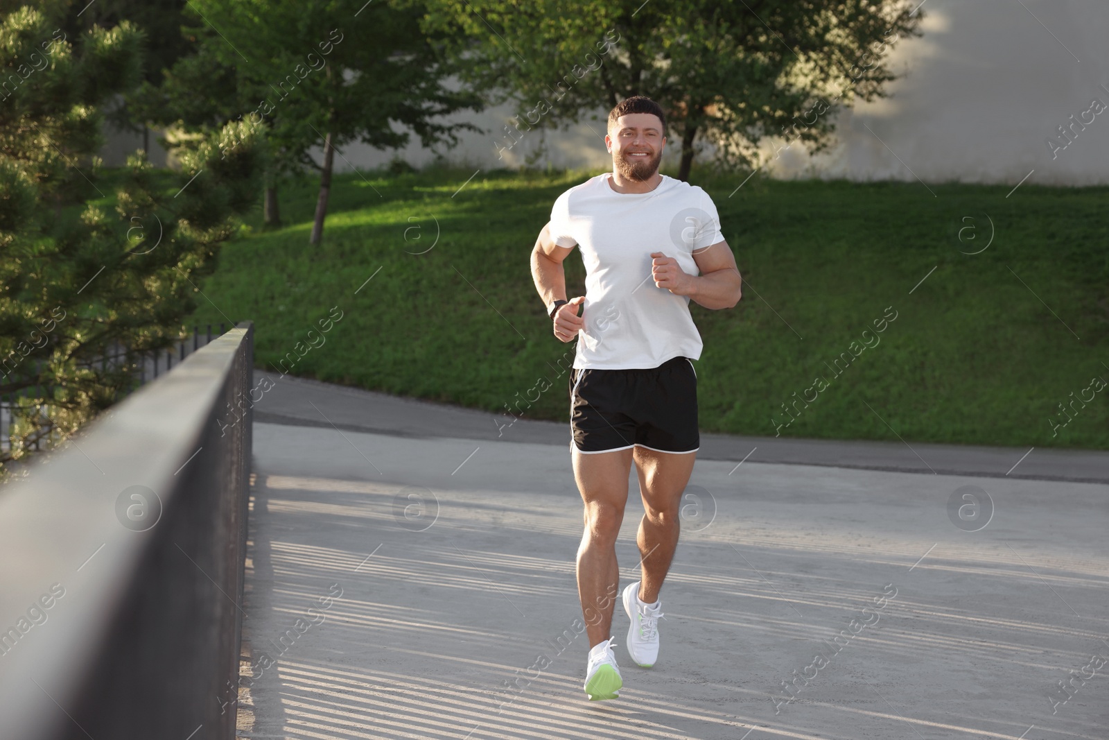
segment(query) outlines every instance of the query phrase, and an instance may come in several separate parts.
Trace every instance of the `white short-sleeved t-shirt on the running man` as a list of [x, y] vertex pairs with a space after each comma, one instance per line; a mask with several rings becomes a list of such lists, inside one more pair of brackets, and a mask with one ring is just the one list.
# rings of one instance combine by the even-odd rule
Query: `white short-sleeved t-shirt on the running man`
[[690, 298], [655, 286], [651, 253], [700, 274], [692, 251], [724, 239], [716, 206], [696, 185], [667, 175], [649, 193], [618, 193], [611, 176], [574, 185], [551, 210], [551, 239], [559, 246], [579, 245], [586, 264], [586, 325], [573, 366], [650, 368], [672, 357], [699, 359], [701, 335]]

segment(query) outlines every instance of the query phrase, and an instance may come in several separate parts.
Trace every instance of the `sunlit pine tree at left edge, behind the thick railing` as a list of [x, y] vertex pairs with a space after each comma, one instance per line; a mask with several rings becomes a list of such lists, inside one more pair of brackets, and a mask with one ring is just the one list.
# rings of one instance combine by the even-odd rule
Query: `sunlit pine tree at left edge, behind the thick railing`
[[108, 356], [177, 337], [196, 281], [256, 201], [265, 153], [243, 124], [185, 151], [169, 182], [132, 155], [109, 195], [101, 109], [139, 83], [143, 41], [125, 21], [70, 40], [31, 7], [0, 23], [0, 394], [20, 404], [0, 464], [129, 389], [133, 363]]

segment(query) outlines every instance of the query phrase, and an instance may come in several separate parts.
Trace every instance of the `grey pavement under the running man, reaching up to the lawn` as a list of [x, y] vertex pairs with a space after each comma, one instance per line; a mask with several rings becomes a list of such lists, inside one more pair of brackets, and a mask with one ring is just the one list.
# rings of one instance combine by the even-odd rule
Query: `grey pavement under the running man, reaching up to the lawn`
[[[1106, 456], [1037, 449], [1006, 476], [1027, 450], [913, 445], [912, 467], [896, 445], [714, 439], [659, 663], [631, 663], [618, 610], [624, 689], [589, 702], [566, 425], [498, 439], [491, 416], [291, 378], [266, 394], [242, 737], [1107, 737], [1109, 486], [1058, 479], [1105, 477]], [[621, 587], [639, 511], [632, 493]]]

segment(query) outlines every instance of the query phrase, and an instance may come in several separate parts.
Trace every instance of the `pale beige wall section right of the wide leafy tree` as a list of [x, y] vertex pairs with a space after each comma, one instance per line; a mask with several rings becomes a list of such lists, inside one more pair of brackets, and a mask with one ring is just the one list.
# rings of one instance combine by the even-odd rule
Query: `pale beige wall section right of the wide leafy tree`
[[924, 37], [893, 52], [892, 97], [844, 111], [830, 152], [791, 148], [775, 174], [1109, 183], [1109, 111], [1054, 159], [1046, 143], [1093, 98], [1109, 104], [1109, 2], [1021, 1], [927, 0]]

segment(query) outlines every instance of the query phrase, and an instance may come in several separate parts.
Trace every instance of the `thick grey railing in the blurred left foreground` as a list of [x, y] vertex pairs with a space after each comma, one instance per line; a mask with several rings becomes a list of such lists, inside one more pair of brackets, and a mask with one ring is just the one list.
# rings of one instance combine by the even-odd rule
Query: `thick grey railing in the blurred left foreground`
[[253, 365], [244, 322], [0, 497], [0, 737], [235, 737]]

